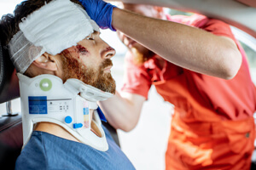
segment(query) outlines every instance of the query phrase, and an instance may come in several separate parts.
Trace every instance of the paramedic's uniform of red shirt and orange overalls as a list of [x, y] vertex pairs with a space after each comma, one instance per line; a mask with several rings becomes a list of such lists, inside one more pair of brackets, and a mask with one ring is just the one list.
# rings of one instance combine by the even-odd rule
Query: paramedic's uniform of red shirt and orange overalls
[[127, 54], [122, 91], [148, 98], [148, 90], [154, 84], [157, 92], [175, 105], [166, 169], [250, 169], [256, 88], [244, 50], [230, 26], [220, 20], [199, 14], [168, 16], [168, 20], [232, 38], [242, 55], [236, 77], [231, 80], [210, 77], [167, 61], [161, 68], [154, 57], [138, 66], [133, 64], [131, 54]]

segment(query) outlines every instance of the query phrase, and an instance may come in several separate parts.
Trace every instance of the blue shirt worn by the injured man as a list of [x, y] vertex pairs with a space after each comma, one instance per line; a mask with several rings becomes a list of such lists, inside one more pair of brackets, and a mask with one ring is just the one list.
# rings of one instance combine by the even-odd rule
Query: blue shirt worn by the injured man
[[99, 151], [86, 144], [34, 131], [32, 138], [21, 151], [15, 169], [135, 169], [119, 146], [114, 143], [108, 130], [105, 127], [103, 129], [108, 141], [107, 151]]

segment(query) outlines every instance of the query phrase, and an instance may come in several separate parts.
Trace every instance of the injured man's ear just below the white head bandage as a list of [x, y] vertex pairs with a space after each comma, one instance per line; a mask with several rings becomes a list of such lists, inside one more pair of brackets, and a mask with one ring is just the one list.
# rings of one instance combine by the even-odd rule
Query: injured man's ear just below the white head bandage
[[38, 59], [34, 60], [32, 64], [44, 70], [57, 71], [54, 56], [48, 53], [42, 54]]

